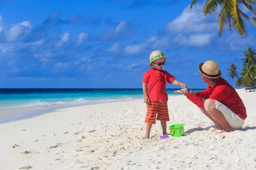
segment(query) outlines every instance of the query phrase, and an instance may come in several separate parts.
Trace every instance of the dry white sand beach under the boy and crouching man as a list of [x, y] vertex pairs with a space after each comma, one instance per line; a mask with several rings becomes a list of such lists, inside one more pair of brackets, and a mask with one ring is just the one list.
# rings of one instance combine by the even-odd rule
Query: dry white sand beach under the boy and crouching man
[[[169, 96], [167, 126], [185, 136], [145, 135], [143, 99], [60, 109], [0, 124], [0, 170], [255, 170], [256, 92], [237, 90], [247, 108], [239, 130], [211, 133], [212, 122], [186, 99]], [[168, 129], [169, 132], [169, 129]]]

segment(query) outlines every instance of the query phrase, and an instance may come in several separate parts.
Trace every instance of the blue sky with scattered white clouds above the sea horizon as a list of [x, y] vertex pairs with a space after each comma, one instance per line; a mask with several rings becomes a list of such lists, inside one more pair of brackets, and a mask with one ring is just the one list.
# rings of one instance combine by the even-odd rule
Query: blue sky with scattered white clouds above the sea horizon
[[[205, 18], [190, 0], [0, 0], [0, 88], [142, 88], [149, 54], [188, 88], [206, 88], [198, 64], [241, 70], [256, 49], [256, 29], [218, 36], [218, 13]], [[249, 16], [251, 13], [242, 8]], [[169, 85], [167, 88], [179, 88]]]

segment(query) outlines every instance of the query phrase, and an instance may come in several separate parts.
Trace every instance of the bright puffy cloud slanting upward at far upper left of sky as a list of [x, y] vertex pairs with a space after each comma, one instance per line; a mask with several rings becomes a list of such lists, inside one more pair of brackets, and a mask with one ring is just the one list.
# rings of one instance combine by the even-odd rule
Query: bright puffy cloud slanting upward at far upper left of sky
[[6, 31], [6, 40], [8, 42], [16, 41], [20, 36], [25, 37], [32, 30], [32, 26], [28, 21], [13, 24], [12, 27]]

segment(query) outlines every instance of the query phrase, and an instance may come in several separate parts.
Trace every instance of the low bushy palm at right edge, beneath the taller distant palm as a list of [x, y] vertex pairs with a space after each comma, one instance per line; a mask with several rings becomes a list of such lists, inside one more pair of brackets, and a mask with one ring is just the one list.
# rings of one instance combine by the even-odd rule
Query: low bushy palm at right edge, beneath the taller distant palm
[[246, 65], [243, 67], [241, 71], [242, 75], [242, 85], [249, 86], [255, 84], [256, 73], [255, 73], [255, 65]]

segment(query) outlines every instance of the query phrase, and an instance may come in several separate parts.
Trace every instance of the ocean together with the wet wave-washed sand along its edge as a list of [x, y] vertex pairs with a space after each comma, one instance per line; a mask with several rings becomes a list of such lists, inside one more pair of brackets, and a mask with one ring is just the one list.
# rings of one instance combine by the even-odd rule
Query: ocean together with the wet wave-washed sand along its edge
[[[174, 93], [175, 90], [179, 89], [167, 89], [166, 92], [180, 95]], [[26, 119], [57, 108], [134, 99], [143, 99], [142, 89], [0, 88], [0, 123]]]

